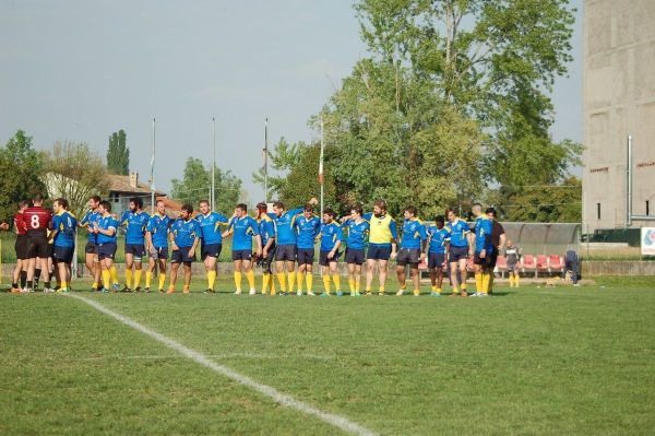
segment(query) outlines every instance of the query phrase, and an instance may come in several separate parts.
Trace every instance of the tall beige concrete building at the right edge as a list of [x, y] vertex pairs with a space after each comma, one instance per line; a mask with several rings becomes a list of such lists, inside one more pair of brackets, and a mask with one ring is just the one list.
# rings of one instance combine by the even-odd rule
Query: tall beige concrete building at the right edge
[[632, 212], [655, 215], [655, 0], [585, 0], [583, 232], [627, 224], [628, 135]]

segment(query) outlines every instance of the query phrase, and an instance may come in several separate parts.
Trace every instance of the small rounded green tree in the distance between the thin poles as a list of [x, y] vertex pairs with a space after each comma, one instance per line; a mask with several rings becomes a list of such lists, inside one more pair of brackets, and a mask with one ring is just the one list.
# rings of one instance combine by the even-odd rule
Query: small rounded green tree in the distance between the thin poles
[[[202, 161], [189, 157], [184, 165], [182, 179], [172, 179], [171, 197], [182, 203], [198, 207], [200, 200], [209, 200], [212, 188], [211, 166], [205, 168]], [[216, 167], [214, 169], [215, 185], [215, 210], [223, 213], [231, 213], [235, 205], [245, 196], [241, 190], [241, 179], [231, 172], [224, 172]]]

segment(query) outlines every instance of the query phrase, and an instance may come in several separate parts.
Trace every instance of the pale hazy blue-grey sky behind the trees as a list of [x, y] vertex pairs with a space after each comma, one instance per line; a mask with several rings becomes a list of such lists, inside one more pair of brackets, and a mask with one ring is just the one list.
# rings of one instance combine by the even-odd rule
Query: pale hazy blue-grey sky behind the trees
[[[569, 76], [557, 80], [552, 137], [582, 142], [582, 0]], [[16, 130], [48, 150], [84, 141], [105, 156], [123, 129], [130, 167], [150, 177], [156, 118], [157, 189], [184, 161], [212, 160], [250, 201], [269, 143], [311, 140], [307, 126], [366, 56], [349, 0], [0, 1], [0, 141]]]

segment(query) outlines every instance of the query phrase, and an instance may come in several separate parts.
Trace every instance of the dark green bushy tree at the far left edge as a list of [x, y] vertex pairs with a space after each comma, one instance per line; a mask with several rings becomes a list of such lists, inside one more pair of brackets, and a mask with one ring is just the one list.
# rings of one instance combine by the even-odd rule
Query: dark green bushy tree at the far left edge
[[29, 200], [45, 192], [40, 180], [44, 156], [32, 149], [32, 137], [23, 130], [16, 131], [3, 148], [0, 148], [0, 219], [9, 220], [21, 200]]

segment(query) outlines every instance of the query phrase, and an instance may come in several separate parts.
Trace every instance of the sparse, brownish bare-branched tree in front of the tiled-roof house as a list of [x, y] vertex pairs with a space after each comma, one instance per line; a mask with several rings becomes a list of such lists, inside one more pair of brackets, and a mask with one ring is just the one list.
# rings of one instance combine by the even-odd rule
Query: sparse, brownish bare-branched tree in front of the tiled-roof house
[[103, 158], [84, 142], [56, 142], [45, 161], [48, 196], [66, 198], [73, 213], [81, 214], [91, 196], [109, 190]]

